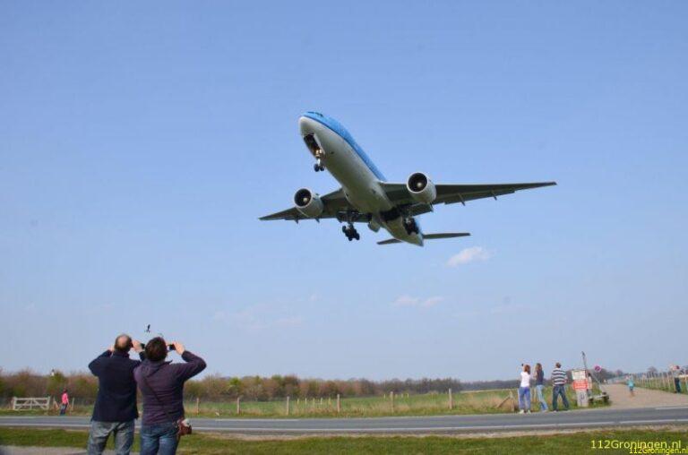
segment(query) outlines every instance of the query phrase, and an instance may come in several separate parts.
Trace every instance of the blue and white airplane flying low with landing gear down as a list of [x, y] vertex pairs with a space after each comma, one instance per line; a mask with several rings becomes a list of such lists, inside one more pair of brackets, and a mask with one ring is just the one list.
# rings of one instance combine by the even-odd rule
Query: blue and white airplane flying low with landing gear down
[[261, 220], [337, 219], [348, 241], [360, 240], [354, 223], [367, 223], [377, 232], [383, 227], [391, 238], [378, 245], [408, 243], [423, 246], [426, 240], [470, 236], [468, 232], [425, 234], [417, 216], [433, 211], [433, 205], [495, 198], [519, 190], [556, 185], [527, 184], [434, 184], [426, 174], [414, 172], [405, 183], [391, 183], [375, 167], [347, 129], [330, 116], [309, 111], [298, 119], [306, 148], [315, 159], [314, 170], [327, 169], [341, 188], [320, 196], [308, 188], [294, 194], [295, 206]]

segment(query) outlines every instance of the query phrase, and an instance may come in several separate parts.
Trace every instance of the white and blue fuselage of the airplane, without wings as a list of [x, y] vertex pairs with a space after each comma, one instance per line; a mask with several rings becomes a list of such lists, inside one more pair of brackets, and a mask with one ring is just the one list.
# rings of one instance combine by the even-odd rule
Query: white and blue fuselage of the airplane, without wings
[[423, 245], [423, 235], [407, 232], [401, 216], [385, 216], [394, 210], [384, 193], [381, 180], [362, 156], [349, 143], [325, 124], [302, 116], [298, 121], [302, 136], [314, 134], [322, 149], [319, 157], [325, 168], [337, 179], [348, 202], [359, 213], [370, 213], [373, 222], [384, 227], [391, 236], [403, 242]]

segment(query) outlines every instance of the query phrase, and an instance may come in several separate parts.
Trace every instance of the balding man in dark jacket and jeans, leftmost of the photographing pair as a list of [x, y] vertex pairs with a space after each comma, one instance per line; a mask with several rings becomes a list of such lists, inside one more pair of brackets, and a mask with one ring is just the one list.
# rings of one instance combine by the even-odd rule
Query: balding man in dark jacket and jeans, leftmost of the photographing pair
[[144, 358], [141, 343], [129, 335], [120, 335], [111, 348], [89, 364], [99, 383], [90, 421], [90, 455], [103, 453], [110, 434], [115, 435], [117, 455], [128, 455], [132, 449], [133, 421], [139, 416], [133, 369], [141, 365], [141, 361], [129, 358], [132, 348]]

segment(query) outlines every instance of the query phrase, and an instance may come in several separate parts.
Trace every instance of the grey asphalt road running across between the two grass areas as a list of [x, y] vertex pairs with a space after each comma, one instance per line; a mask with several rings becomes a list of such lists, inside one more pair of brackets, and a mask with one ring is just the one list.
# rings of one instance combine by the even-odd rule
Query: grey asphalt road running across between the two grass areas
[[[688, 407], [591, 409], [534, 414], [374, 418], [192, 418], [194, 431], [235, 434], [441, 434], [688, 425]], [[89, 417], [0, 416], [0, 426], [88, 428]]]

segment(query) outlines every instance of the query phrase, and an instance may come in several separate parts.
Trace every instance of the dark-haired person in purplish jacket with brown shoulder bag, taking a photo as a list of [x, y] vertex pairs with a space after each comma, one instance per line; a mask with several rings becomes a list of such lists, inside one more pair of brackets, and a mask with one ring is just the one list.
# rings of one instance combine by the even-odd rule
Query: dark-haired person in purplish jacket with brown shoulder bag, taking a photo
[[170, 345], [185, 364], [165, 362], [168, 344], [156, 337], [146, 344], [146, 360], [133, 372], [143, 396], [141, 455], [172, 455], [184, 419], [184, 383], [205, 369], [205, 361], [177, 341]]

